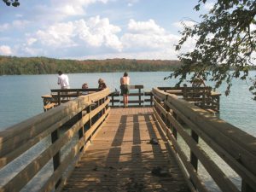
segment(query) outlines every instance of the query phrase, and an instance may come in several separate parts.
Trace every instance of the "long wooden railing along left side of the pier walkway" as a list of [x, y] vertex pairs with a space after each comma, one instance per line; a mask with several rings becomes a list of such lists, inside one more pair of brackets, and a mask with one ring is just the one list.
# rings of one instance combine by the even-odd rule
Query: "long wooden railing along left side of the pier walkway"
[[[0, 168], [10, 166], [37, 145], [46, 145], [26, 166], [1, 183], [1, 192], [20, 191], [47, 164], [53, 170], [39, 191], [59, 191], [80, 154], [108, 117], [109, 90], [79, 96], [0, 132]], [[76, 141], [75, 143], [73, 141]], [[65, 149], [66, 148], [66, 149]], [[45, 177], [45, 176], [44, 176]]]

